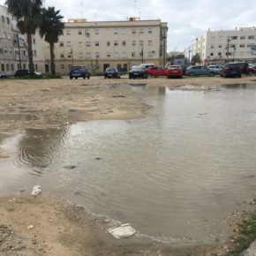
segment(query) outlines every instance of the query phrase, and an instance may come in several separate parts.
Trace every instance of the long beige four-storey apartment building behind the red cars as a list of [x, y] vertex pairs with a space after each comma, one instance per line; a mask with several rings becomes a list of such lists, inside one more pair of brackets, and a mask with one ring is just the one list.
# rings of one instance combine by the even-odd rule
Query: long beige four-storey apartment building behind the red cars
[[[127, 71], [134, 64], [165, 64], [167, 31], [167, 23], [159, 19], [69, 19], [55, 45], [56, 72], [67, 73], [72, 64], [99, 72], [108, 66]], [[49, 50], [45, 58], [49, 59]]]

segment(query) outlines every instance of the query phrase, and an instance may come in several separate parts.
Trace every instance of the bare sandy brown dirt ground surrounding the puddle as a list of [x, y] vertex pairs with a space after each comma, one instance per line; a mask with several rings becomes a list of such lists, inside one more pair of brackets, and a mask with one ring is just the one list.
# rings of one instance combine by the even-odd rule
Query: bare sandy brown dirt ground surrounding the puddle
[[[255, 84], [242, 79], [50, 79], [0, 80], [0, 161], [8, 157], [1, 142], [19, 129], [71, 124], [96, 119], [129, 119], [147, 115], [151, 107], [132, 91], [116, 92], [115, 85], [149, 87], [222, 84]], [[106, 90], [106, 85], [113, 90]], [[0, 198], [0, 255], [217, 255], [229, 245], [169, 248], [160, 243], [138, 243], [135, 238], [116, 240], [92, 221], [83, 209], [40, 195], [19, 194]]]

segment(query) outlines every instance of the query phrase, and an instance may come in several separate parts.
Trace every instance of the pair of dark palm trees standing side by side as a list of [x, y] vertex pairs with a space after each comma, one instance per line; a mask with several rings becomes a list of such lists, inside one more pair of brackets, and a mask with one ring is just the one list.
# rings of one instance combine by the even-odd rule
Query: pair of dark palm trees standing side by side
[[17, 20], [17, 27], [21, 34], [27, 37], [28, 67], [34, 73], [32, 35], [39, 29], [39, 34], [49, 42], [50, 71], [56, 74], [54, 44], [63, 34], [64, 18], [55, 7], [42, 7], [41, 0], [6, 0], [7, 10]]

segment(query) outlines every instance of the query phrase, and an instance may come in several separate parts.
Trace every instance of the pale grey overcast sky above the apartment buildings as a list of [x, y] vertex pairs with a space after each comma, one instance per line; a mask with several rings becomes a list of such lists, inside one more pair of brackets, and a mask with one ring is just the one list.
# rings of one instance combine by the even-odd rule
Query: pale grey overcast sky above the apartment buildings
[[[0, 0], [4, 4], [5, 0]], [[230, 30], [236, 26], [256, 26], [256, 1], [224, 0], [46, 0], [64, 19], [88, 21], [161, 19], [168, 22], [168, 51], [184, 50], [207, 31]]]

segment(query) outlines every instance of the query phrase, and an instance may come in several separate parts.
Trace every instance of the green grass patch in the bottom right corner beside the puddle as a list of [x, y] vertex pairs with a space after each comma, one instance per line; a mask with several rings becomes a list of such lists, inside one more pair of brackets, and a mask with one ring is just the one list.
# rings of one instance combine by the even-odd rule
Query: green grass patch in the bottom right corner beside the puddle
[[239, 237], [235, 240], [235, 247], [225, 256], [237, 256], [245, 251], [256, 239], [256, 214], [251, 215], [247, 220], [239, 224]]

